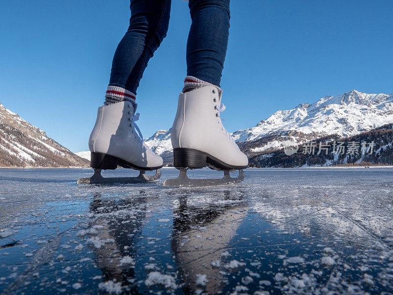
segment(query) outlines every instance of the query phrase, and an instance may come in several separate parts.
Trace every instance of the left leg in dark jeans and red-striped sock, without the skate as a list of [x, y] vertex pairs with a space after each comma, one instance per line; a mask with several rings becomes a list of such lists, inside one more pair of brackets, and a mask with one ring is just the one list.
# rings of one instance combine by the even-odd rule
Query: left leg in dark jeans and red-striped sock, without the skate
[[106, 102], [135, 99], [140, 78], [167, 35], [171, 0], [131, 0], [130, 26], [114, 53]]

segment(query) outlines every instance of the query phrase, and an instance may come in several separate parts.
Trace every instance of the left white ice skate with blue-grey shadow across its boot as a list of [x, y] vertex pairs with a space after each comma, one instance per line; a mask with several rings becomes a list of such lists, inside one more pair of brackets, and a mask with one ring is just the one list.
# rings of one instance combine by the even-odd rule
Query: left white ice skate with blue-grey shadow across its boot
[[[90, 167], [94, 175], [81, 178], [78, 183], [139, 183], [158, 179], [163, 159], [151, 151], [143, 142], [142, 134], [135, 123], [136, 103], [122, 101], [98, 108], [97, 120], [89, 139], [91, 151]], [[135, 129], [138, 131], [139, 136]], [[101, 176], [101, 170], [116, 169], [117, 166], [140, 171], [138, 177]], [[156, 170], [154, 176], [145, 171]]]

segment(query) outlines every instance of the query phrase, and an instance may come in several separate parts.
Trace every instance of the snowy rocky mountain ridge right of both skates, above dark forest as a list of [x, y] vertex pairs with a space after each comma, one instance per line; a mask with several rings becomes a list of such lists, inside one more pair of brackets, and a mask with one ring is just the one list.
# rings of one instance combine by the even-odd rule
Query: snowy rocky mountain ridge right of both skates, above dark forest
[[[388, 104], [388, 107], [386, 105]], [[357, 117], [365, 116], [366, 120]], [[383, 117], [387, 117], [386, 120]], [[255, 140], [268, 133], [296, 130], [309, 134], [351, 136], [390, 123], [393, 120], [393, 94], [368, 94], [351, 90], [341, 95], [325, 96], [312, 104], [299, 104], [277, 111], [260, 120], [255, 127], [233, 132], [236, 141]], [[318, 125], [319, 124], [319, 125]]]

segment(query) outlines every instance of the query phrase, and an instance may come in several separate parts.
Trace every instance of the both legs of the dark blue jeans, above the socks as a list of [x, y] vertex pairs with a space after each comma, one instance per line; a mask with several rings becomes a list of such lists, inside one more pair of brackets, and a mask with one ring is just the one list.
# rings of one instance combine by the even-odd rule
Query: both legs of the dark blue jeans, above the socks
[[[114, 53], [109, 85], [136, 94], [147, 62], [167, 35], [171, 0], [131, 0], [130, 26]], [[187, 76], [220, 87], [229, 34], [229, 0], [190, 0]]]

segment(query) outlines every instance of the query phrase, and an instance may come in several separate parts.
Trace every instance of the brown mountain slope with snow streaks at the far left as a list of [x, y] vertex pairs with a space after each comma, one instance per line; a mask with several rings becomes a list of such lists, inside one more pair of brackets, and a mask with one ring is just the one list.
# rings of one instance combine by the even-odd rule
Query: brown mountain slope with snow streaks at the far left
[[7, 166], [85, 167], [88, 161], [0, 103], [0, 167]]

